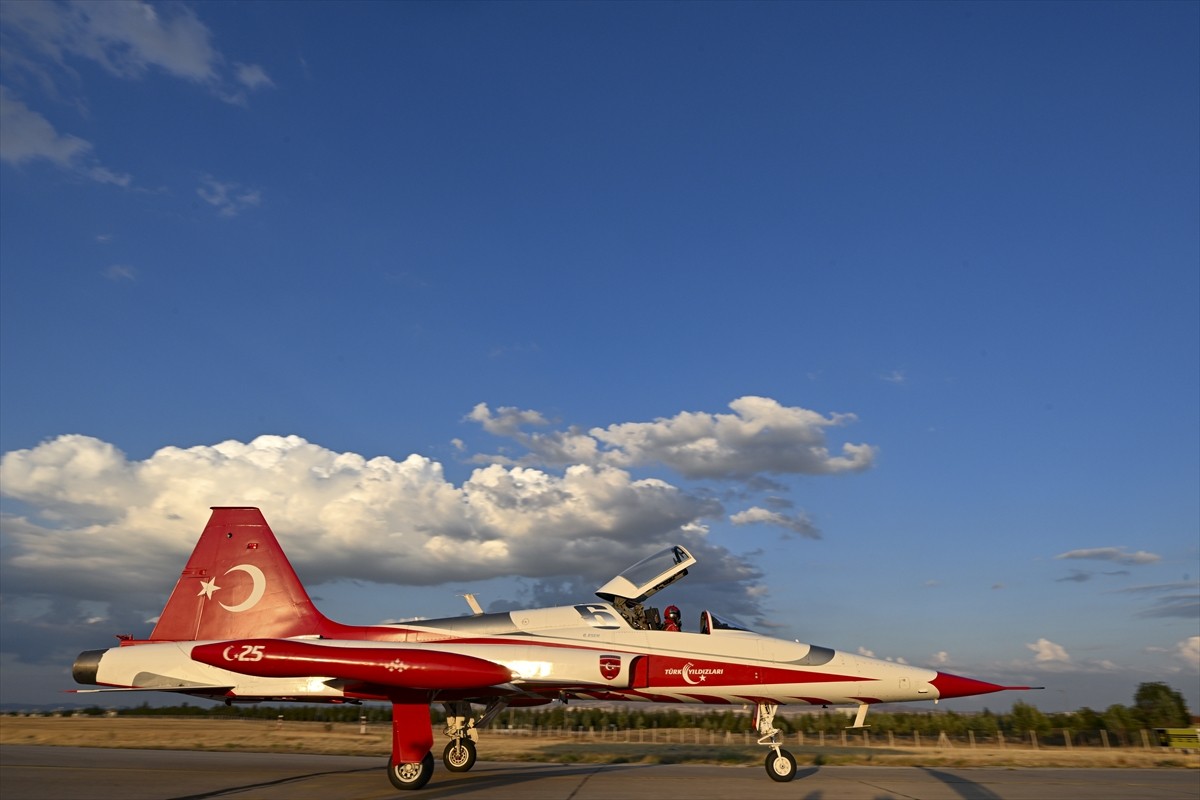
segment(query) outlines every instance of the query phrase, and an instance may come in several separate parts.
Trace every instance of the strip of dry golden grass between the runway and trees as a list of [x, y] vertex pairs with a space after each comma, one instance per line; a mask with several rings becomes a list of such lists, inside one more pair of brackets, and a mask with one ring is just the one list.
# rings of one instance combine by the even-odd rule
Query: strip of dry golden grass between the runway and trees
[[[434, 728], [434, 754], [440, 754], [442, 732]], [[222, 752], [322, 753], [379, 756], [391, 747], [391, 728], [372, 723], [272, 722], [264, 720], [158, 718], [158, 717], [0, 717], [2, 745], [61, 745], [200, 750]], [[1006, 747], [901, 747], [839, 744], [785, 744], [799, 764], [880, 766], [1045, 766], [1045, 768], [1189, 768], [1200, 769], [1200, 753], [1160, 747], [1102, 748], [1007, 745]], [[494, 762], [550, 762], [587, 764], [761, 764], [764, 750], [748, 736], [715, 740], [708, 732], [676, 729], [612, 732], [610, 734], [528, 735], [484, 730], [480, 757]]]

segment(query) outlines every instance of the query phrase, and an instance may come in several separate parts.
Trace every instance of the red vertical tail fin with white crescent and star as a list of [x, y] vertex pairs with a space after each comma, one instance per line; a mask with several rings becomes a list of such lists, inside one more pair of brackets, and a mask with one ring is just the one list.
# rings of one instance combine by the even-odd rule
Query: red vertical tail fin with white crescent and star
[[263, 513], [214, 507], [150, 638], [286, 638], [318, 634], [329, 624]]

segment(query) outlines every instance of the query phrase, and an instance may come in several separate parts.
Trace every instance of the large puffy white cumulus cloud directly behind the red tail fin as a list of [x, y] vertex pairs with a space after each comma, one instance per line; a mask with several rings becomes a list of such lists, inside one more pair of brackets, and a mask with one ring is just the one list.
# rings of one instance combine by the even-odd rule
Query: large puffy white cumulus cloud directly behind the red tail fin
[[260, 506], [316, 583], [580, 572], [604, 581], [674, 541], [718, 572], [743, 571], [695, 527], [719, 506], [602, 465], [554, 475], [493, 464], [456, 486], [422, 456], [366, 458], [299, 437], [163, 447], [131, 461], [108, 443], [64, 435], [5, 453], [0, 485], [37, 509], [4, 519], [8, 591], [53, 582], [59, 591], [104, 596], [131, 576], [173, 575], [212, 505]]

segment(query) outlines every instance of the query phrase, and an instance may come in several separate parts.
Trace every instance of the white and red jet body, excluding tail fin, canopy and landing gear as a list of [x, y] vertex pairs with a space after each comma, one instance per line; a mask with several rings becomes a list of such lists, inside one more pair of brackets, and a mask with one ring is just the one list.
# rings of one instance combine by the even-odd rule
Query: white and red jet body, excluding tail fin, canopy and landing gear
[[[200, 687], [209, 686], [222, 687], [214, 696], [229, 699], [289, 697], [311, 702], [385, 700], [395, 697], [397, 687], [466, 699], [469, 686], [505, 682], [414, 686], [414, 666], [443, 654], [502, 666], [509, 672], [508, 692], [514, 699], [554, 699], [565, 691], [580, 698], [656, 703], [839, 705], [953, 697], [958, 693], [948, 684], [954, 680], [973, 684], [971, 693], [990, 686], [750, 631], [635, 630], [611, 604], [601, 602], [455, 618], [433, 625], [370, 626], [358, 633], [362, 638], [137, 643], [103, 651], [94, 666], [89, 663], [76, 676], [80, 682], [115, 687], [178, 691], [194, 686], [194, 693], [203, 694]], [[306, 650], [289, 652], [293, 643], [293, 649], [302, 644]], [[352, 650], [368, 652], [360, 673], [347, 678], [340, 656]], [[284, 662], [294, 668], [278, 666]], [[337, 668], [330, 662], [337, 662]], [[391, 663], [398, 666], [389, 669]], [[372, 664], [376, 672], [371, 672]], [[324, 675], [323, 669], [334, 674]], [[454, 670], [454, 664], [448, 669]]]

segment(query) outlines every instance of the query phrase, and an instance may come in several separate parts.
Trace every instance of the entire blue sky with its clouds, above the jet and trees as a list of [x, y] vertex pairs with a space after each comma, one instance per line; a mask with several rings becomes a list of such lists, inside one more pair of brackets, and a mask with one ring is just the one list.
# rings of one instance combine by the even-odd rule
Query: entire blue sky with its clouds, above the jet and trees
[[254, 504], [343, 621], [678, 541], [685, 622], [1200, 708], [1198, 41], [1183, 2], [0, 1], [0, 702]]

